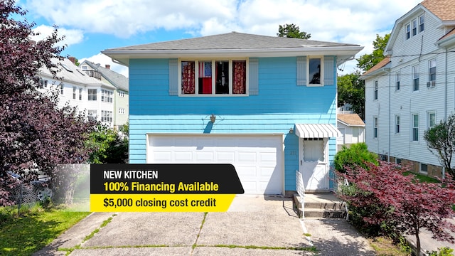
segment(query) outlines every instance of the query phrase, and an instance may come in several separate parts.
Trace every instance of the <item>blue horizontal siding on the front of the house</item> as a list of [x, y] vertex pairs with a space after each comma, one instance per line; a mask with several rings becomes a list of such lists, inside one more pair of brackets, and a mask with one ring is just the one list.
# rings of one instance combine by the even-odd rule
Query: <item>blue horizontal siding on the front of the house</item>
[[[296, 58], [258, 60], [259, 93], [247, 97], [169, 95], [167, 59], [130, 60], [130, 163], [146, 162], [146, 133], [281, 133], [285, 190], [295, 190], [299, 138], [289, 129], [296, 123], [336, 125], [336, 86], [297, 86]], [[216, 115], [216, 121], [208, 127], [210, 114]], [[332, 161], [336, 140], [329, 143]]]

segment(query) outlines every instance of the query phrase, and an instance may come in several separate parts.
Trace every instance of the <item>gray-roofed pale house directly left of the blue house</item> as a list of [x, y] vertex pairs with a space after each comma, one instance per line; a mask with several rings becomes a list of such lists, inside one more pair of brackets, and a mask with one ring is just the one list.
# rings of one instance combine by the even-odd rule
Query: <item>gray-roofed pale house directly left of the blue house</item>
[[92, 76], [107, 82], [115, 87], [114, 90], [114, 128], [118, 128], [128, 122], [129, 117], [129, 85], [128, 78], [110, 69], [110, 65], [102, 67], [99, 63], [95, 64], [88, 60], [80, 63], [80, 68]]

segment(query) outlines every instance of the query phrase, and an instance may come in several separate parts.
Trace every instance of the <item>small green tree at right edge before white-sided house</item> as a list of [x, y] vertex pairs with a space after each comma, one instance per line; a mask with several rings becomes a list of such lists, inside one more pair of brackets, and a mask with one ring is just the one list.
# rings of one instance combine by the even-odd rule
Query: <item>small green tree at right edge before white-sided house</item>
[[424, 132], [429, 151], [438, 156], [439, 162], [452, 177], [455, 170], [451, 166], [455, 150], [455, 114]]

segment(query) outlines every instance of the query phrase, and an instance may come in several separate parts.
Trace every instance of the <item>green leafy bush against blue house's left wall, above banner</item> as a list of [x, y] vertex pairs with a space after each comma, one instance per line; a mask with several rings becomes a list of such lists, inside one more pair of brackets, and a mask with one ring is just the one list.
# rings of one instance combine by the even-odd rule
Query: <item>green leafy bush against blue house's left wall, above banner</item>
[[91, 149], [90, 164], [125, 164], [128, 159], [128, 139], [105, 125], [98, 124], [86, 142]]

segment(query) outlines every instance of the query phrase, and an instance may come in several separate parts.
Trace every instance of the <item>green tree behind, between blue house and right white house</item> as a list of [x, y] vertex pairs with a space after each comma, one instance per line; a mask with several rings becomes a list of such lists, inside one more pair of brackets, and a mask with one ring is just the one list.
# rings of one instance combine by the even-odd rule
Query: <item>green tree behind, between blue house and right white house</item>
[[338, 106], [348, 103], [355, 114], [365, 119], [365, 81], [359, 77], [360, 71], [338, 77]]

